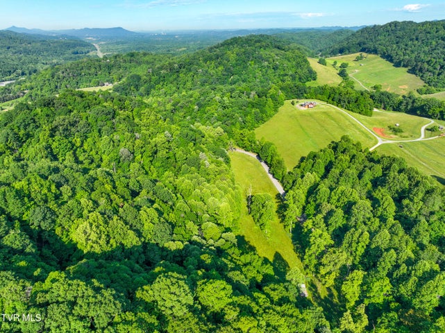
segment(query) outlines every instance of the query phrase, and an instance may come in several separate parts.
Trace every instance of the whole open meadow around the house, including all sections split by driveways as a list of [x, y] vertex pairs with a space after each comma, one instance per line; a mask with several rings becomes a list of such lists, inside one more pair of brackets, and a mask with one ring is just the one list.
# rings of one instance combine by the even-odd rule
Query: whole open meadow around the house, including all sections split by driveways
[[[378, 128], [384, 129], [383, 133], [387, 135], [380, 137], [387, 140], [418, 139], [421, 136], [421, 127], [430, 123], [429, 119], [400, 112], [373, 112], [372, 117], [346, 112], [375, 133], [378, 133]], [[394, 126], [396, 123], [403, 130], [402, 133], [394, 134], [388, 129], [388, 126]], [[435, 121], [435, 124], [444, 126], [445, 121]], [[433, 124], [427, 128], [431, 126]], [[264, 137], [274, 142], [289, 170], [310, 151], [324, 148], [330, 142], [339, 140], [342, 135], [351, 136], [354, 140], [361, 142], [363, 147], [370, 148], [377, 143], [376, 138], [356, 121], [330, 105], [319, 104], [312, 110], [300, 110], [292, 105], [291, 101], [285, 101], [278, 113], [267, 123], [258, 127], [255, 134], [258, 139]], [[425, 131], [426, 138], [438, 134]], [[382, 144], [376, 148], [379, 154], [404, 157], [412, 167], [416, 167], [426, 175], [435, 176], [439, 182], [442, 179], [445, 183], [443, 167], [445, 155], [442, 153], [444, 150], [445, 138], [442, 137], [423, 142]]]

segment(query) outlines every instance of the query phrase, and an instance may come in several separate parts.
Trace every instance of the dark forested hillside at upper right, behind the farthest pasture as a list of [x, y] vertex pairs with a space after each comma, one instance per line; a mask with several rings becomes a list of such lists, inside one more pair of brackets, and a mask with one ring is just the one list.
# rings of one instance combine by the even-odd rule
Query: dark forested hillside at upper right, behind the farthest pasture
[[445, 21], [390, 22], [362, 28], [325, 53], [368, 52], [408, 67], [428, 85], [445, 87]]

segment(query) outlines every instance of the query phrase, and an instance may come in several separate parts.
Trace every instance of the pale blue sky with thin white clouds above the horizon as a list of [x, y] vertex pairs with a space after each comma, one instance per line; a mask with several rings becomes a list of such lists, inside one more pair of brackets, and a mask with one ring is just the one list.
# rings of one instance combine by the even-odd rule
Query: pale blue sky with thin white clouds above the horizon
[[445, 1], [0, 0], [0, 29], [300, 28], [433, 19], [445, 19]]

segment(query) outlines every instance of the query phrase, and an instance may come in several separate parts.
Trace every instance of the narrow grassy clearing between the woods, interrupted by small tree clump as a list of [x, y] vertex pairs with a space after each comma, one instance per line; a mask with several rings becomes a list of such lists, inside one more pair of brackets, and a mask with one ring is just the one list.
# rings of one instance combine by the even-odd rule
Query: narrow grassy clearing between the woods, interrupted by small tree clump
[[[258, 160], [242, 153], [233, 152], [230, 153], [230, 161], [235, 173], [235, 180], [242, 189], [243, 198], [246, 198], [250, 186], [252, 187], [252, 194], [268, 193], [272, 197], [276, 197], [278, 191]], [[266, 236], [258, 225], [255, 225], [246, 205], [243, 205], [243, 207], [240, 219], [240, 234], [257, 250], [257, 253], [271, 262], [274, 262], [278, 253], [290, 268], [299, 267], [303, 269], [303, 264], [294, 252], [292, 240], [284, 230], [278, 216], [275, 216], [274, 221], [271, 221], [270, 229], [273, 231]]]

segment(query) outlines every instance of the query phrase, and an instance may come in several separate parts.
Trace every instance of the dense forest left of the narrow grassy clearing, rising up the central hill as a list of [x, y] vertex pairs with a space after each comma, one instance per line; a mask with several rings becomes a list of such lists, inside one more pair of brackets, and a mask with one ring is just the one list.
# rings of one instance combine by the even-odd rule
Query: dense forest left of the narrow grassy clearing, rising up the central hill
[[[244, 43], [228, 42], [231, 57]], [[237, 66], [246, 62], [233, 73], [216, 67], [217, 49], [202, 53], [215, 60], [199, 60], [195, 71], [180, 69], [178, 59], [156, 67], [130, 54], [133, 73], [117, 92], [56, 96], [49, 92], [57, 87], [36, 87], [0, 114], [0, 308], [42, 318], [1, 321], [2, 331], [328, 332], [323, 310], [286, 279], [282, 260], [269, 262], [236, 235], [245, 203], [224, 128], [237, 121], [233, 137], [257, 144], [249, 126], [276, 112], [284, 96], [255, 76], [256, 67], [299, 75], [298, 67], [281, 67], [268, 42], [256, 50], [245, 76]], [[58, 81], [57, 69], [40, 77], [47, 73]], [[210, 88], [194, 81], [213, 78]], [[267, 228], [274, 206], [264, 210], [263, 201], [253, 198], [251, 212]]]

